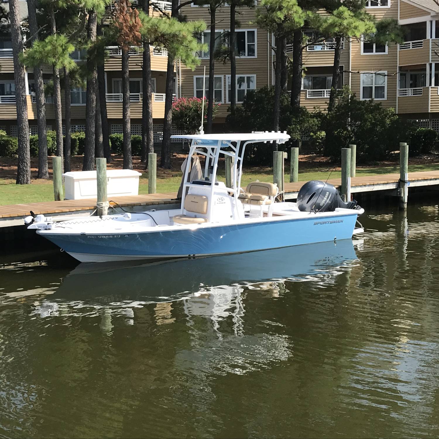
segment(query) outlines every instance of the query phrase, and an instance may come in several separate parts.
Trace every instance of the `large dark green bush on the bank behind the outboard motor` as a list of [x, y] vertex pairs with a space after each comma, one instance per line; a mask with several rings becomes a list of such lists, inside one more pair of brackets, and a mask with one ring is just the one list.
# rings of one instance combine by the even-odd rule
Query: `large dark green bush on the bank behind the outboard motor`
[[357, 145], [357, 159], [362, 162], [385, 160], [407, 141], [412, 125], [399, 119], [392, 108], [380, 103], [360, 101], [344, 88], [334, 110], [322, 119], [326, 132], [324, 155], [340, 159], [341, 148]]

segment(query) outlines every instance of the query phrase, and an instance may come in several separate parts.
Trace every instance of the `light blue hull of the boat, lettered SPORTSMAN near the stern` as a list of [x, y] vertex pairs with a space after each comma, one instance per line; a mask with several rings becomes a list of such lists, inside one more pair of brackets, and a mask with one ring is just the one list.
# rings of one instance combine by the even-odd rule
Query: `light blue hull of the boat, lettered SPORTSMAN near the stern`
[[38, 231], [81, 262], [173, 259], [254, 252], [349, 239], [357, 212], [143, 233], [68, 234]]

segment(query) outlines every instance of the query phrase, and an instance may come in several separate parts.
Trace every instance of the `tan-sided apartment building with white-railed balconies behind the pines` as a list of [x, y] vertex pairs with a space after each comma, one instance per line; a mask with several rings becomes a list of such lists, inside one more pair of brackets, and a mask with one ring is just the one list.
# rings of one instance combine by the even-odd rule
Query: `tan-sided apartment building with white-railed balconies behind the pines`
[[[156, 0], [162, 10], [169, 10], [171, 4]], [[20, 14], [27, 16], [27, 3], [20, 0]], [[135, 1], [133, 1], [135, 3]], [[256, 8], [238, 8], [237, 20], [237, 103], [241, 103], [249, 90], [270, 86], [274, 83], [273, 65], [275, 54], [271, 49], [273, 36], [255, 23]], [[358, 99], [374, 99], [406, 119], [417, 120], [421, 126], [431, 126], [439, 130], [439, 29], [437, 24], [439, 7], [434, 0], [367, 0], [367, 12], [381, 18], [396, 18], [405, 30], [405, 42], [397, 45], [389, 43], [380, 46], [362, 39], [346, 39], [343, 42], [340, 65], [342, 75], [339, 86], [347, 84]], [[209, 25], [207, 7], [196, 4], [182, 8], [181, 13], [189, 20], [204, 20]], [[219, 36], [230, 26], [230, 10], [227, 5], [216, 13], [216, 34]], [[312, 32], [310, 30], [310, 32]], [[436, 38], [436, 35], [438, 38]], [[210, 41], [209, 28], [200, 36], [204, 43]], [[155, 141], [162, 135], [166, 50], [150, 47], [153, 77], [153, 120]], [[292, 47], [287, 51], [291, 56]], [[108, 47], [105, 61], [106, 99], [108, 121], [112, 133], [122, 132], [122, 72], [121, 53], [118, 47]], [[76, 51], [72, 58], [76, 62], [84, 60], [84, 53]], [[181, 63], [176, 63], [175, 96], [202, 97], [203, 72], [209, 75], [209, 50], [198, 54], [201, 64], [192, 71]], [[130, 53], [130, 101], [131, 131], [141, 133], [142, 117], [142, 56], [138, 48]], [[301, 105], [313, 110], [326, 108], [330, 92], [334, 43], [325, 41], [309, 45], [303, 52], [306, 68], [302, 81]], [[437, 67], [437, 68], [436, 68]], [[437, 70], [437, 71], [436, 71]], [[36, 103], [32, 69], [27, 72], [26, 90], [28, 94], [28, 116], [31, 133], [36, 133]], [[44, 79], [49, 81], [50, 68], [44, 69]], [[208, 81], [205, 87], [207, 90]], [[230, 62], [216, 61], [214, 96], [221, 103], [215, 119], [215, 129], [221, 130], [227, 117], [230, 103]], [[17, 134], [15, 107], [14, 67], [11, 41], [0, 40], [0, 129], [11, 135]], [[85, 127], [86, 91], [74, 89], [72, 99], [73, 130]], [[63, 98], [64, 99], [64, 98]], [[64, 103], [63, 103], [64, 108]], [[64, 111], [64, 110], [63, 110]], [[54, 125], [53, 98], [46, 98], [47, 125]], [[175, 131], [177, 133], [177, 131]]]

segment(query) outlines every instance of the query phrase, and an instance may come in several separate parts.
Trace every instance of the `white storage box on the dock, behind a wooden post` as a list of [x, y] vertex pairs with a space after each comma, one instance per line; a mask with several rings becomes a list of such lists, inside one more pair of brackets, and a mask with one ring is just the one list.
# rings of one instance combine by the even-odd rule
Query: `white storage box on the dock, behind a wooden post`
[[[142, 174], [130, 169], [110, 169], [107, 171], [108, 197], [139, 194], [139, 177]], [[65, 199], [83, 200], [97, 197], [96, 171], [66, 172]]]

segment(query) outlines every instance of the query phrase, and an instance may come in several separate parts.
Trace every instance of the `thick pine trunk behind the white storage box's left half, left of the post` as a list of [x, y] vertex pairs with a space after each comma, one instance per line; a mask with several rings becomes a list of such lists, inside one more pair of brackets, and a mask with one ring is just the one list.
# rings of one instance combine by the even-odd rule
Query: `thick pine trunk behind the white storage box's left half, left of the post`
[[[88, 16], [87, 39], [96, 41], [97, 14], [92, 10]], [[87, 99], [85, 110], [85, 151], [83, 171], [94, 169], [94, 144], [96, 137], [96, 83], [97, 70], [95, 60], [87, 55]]]

